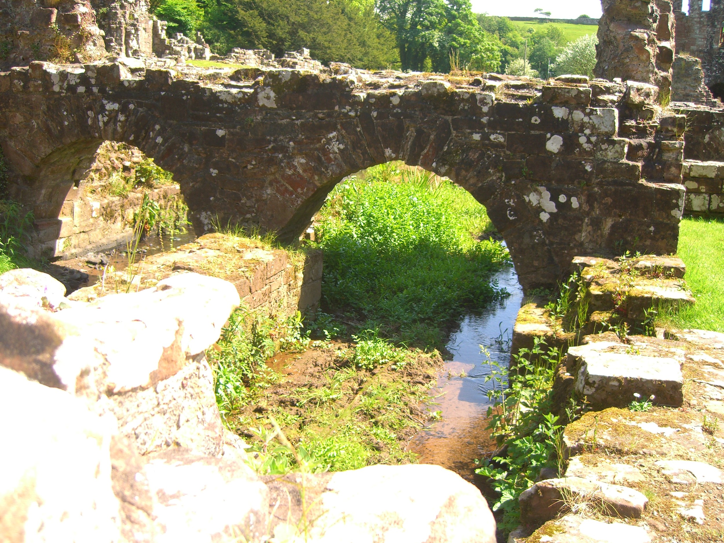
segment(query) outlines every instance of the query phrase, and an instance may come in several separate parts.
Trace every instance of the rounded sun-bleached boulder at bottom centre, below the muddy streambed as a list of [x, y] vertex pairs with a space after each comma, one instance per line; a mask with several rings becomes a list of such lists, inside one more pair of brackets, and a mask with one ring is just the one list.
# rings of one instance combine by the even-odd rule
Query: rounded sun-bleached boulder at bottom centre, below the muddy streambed
[[324, 514], [311, 527], [319, 543], [390, 541], [391, 534], [405, 543], [495, 542], [479, 490], [440, 466], [369, 466], [324, 477]]

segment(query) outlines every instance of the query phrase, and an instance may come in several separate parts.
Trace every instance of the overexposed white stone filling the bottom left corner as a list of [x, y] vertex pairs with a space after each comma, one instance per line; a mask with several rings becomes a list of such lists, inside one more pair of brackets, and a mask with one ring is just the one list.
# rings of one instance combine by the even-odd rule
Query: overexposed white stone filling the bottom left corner
[[7, 414], [0, 421], [3, 539], [118, 541], [109, 457], [113, 417], [98, 417], [62, 390], [2, 367], [0, 409]]

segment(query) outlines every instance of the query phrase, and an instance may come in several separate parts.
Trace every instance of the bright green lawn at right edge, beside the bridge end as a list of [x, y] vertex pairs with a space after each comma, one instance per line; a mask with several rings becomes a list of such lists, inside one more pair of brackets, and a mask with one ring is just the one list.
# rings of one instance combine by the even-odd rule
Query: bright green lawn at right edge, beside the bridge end
[[678, 255], [696, 305], [671, 317], [670, 324], [724, 332], [724, 222], [683, 219]]

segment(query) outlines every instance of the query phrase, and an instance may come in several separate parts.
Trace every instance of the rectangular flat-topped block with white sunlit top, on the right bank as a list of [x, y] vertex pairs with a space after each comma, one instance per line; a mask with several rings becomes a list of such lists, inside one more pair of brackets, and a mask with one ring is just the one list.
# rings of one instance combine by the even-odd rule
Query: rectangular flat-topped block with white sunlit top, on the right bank
[[594, 408], [624, 407], [634, 393], [661, 405], [683, 403], [681, 365], [675, 358], [627, 352], [631, 348], [614, 342], [594, 342], [568, 349], [570, 363], [577, 368], [574, 390], [586, 396]]

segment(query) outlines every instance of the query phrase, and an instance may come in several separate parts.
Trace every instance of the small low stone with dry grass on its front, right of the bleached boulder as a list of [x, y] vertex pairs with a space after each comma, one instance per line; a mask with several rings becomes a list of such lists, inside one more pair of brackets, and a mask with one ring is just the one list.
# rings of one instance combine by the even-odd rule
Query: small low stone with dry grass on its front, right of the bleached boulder
[[518, 502], [521, 505], [521, 522], [538, 525], [552, 518], [565, 508], [565, 503], [589, 503], [605, 515], [639, 518], [648, 498], [638, 490], [589, 481], [580, 477], [547, 479], [524, 491]]

